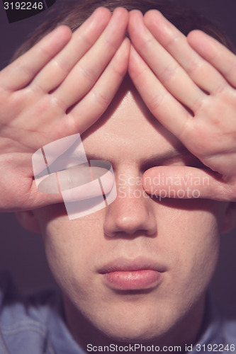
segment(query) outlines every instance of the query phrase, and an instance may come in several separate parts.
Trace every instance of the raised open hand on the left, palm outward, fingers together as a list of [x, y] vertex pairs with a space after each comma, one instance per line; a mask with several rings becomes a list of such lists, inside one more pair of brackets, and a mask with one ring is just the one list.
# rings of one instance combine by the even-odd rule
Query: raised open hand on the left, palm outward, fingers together
[[[60, 26], [0, 73], [0, 211], [62, 201], [40, 193], [33, 153], [82, 134], [111, 102], [128, 69], [128, 11], [98, 8], [76, 31]], [[124, 39], [125, 38], [125, 39]]]

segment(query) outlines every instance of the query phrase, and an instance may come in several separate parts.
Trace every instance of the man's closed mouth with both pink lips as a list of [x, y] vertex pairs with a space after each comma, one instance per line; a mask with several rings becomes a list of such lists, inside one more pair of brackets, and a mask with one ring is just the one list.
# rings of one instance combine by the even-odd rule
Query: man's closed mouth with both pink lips
[[162, 281], [164, 267], [147, 258], [118, 258], [104, 265], [99, 273], [105, 284], [113, 290], [146, 290]]

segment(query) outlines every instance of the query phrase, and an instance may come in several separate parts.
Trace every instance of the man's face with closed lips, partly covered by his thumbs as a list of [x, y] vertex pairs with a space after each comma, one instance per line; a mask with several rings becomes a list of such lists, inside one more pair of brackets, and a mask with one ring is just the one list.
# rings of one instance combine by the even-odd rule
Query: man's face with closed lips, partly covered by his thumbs
[[152, 117], [132, 86], [121, 87], [82, 141], [88, 159], [111, 161], [116, 200], [72, 221], [63, 204], [35, 211], [68, 322], [76, 324], [78, 309], [118, 341], [175, 341], [184, 330], [191, 332], [193, 320], [198, 329], [225, 203], [160, 201], [144, 192], [140, 176], [151, 166], [196, 161], [190, 154], [163, 159], [181, 143]]

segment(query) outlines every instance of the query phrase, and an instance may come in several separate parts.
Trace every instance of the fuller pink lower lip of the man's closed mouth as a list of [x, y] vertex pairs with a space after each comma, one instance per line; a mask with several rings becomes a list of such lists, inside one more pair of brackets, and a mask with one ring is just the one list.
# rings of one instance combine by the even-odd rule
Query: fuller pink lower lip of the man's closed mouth
[[159, 284], [162, 274], [157, 270], [128, 270], [105, 273], [105, 281], [109, 287], [117, 290], [145, 290]]

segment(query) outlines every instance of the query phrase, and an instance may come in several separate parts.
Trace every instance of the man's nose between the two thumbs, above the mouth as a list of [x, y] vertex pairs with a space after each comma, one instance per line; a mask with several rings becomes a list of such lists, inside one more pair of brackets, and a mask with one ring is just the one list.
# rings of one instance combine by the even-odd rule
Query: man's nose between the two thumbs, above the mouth
[[156, 234], [154, 203], [143, 190], [140, 181], [141, 178], [137, 173], [116, 176], [117, 197], [106, 208], [103, 225], [106, 236]]

